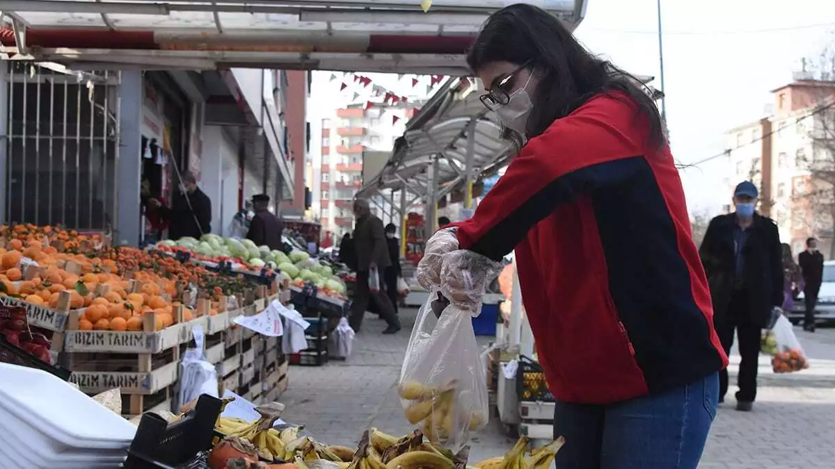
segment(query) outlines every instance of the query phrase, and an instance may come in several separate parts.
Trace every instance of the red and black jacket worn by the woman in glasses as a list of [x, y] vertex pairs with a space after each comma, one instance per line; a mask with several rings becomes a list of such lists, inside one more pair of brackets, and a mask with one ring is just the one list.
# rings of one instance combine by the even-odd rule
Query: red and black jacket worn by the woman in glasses
[[648, 138], [630, 98], [596, 96], [530, 139], [457, 224], [462, 249], [515, 249], [559, 401], [623, 401], [727, 366], [678, 170]]

